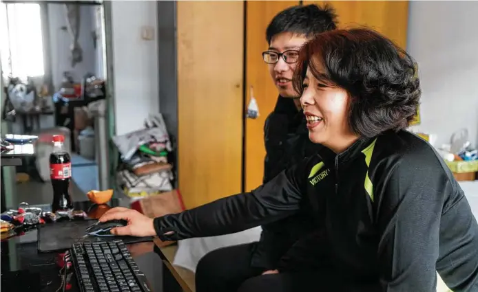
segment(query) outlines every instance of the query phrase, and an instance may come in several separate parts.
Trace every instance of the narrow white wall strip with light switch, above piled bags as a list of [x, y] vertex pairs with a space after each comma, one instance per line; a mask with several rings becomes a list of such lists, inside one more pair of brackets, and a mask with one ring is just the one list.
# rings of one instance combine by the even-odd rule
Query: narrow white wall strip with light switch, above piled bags
[[[112, 42], [116, 135], [143, 128], [159, 111], [156, 1], [112, 1]], [[145, 41], [141, 28], [154, 28]]]

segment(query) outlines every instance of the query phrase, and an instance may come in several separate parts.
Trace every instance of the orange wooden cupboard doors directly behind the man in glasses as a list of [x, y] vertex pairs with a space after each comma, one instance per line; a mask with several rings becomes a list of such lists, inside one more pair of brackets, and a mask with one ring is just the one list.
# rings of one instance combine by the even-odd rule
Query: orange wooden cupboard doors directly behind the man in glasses
[[[408, 1], [304, 1], [303, 4], [329, 3], [335, 8], [339, 27], [367, 25], [406, 47]], [[278, 91], [273, 85], [261, 52], [267, 49], [265, 30], [269, 21], [281, 10], [298, 5], [299, 1], [247, 1], [246, 13], [246, 104], [251, 87], [258, 102], [260, 116], [246, 120], [245, 128], [245, 191], [262, 184], [264, 174], [264, 122], [276, 104]]]

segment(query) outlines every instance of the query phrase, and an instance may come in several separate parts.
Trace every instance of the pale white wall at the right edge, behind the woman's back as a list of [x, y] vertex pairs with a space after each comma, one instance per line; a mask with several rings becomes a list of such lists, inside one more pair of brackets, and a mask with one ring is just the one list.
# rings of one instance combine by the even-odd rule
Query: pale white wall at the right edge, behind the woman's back
[[408, 52], [419, 64], [422, 124], [449, 143], [466, 126], [478, 144], [478, 1], [410, 1]]

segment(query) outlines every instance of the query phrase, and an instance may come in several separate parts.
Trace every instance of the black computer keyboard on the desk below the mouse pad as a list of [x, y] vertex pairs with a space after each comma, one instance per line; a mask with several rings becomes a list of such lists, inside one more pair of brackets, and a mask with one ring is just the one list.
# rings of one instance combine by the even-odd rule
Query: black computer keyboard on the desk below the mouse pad
[[75, 243], [70, 250], [82, 292], [150, 292], [123, 240]]

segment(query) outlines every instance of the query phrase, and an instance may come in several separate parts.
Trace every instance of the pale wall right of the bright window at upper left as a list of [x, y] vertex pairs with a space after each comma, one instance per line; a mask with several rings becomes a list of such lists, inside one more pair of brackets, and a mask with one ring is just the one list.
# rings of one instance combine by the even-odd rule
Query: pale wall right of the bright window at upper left
[[92, 32], [96, 30], [94, 5], [80, 6], [80, 33], [79, 44], [83, 49], [83, 61], [74, 67], [70, 61], [70, 45], [72, 37], [62, 30], [67, 26], [66, 8], [63, 4], [48, 4], [48, 24], [50, 29], [50, 52], [52, 58], [52, 80], [54, 90], [58, 90], [63, 80], [63, 71], [71, 71], [74, 80], [81, 81], [87, 73], [96, 74], [96, 60], [98, 54], [94, 47]]

